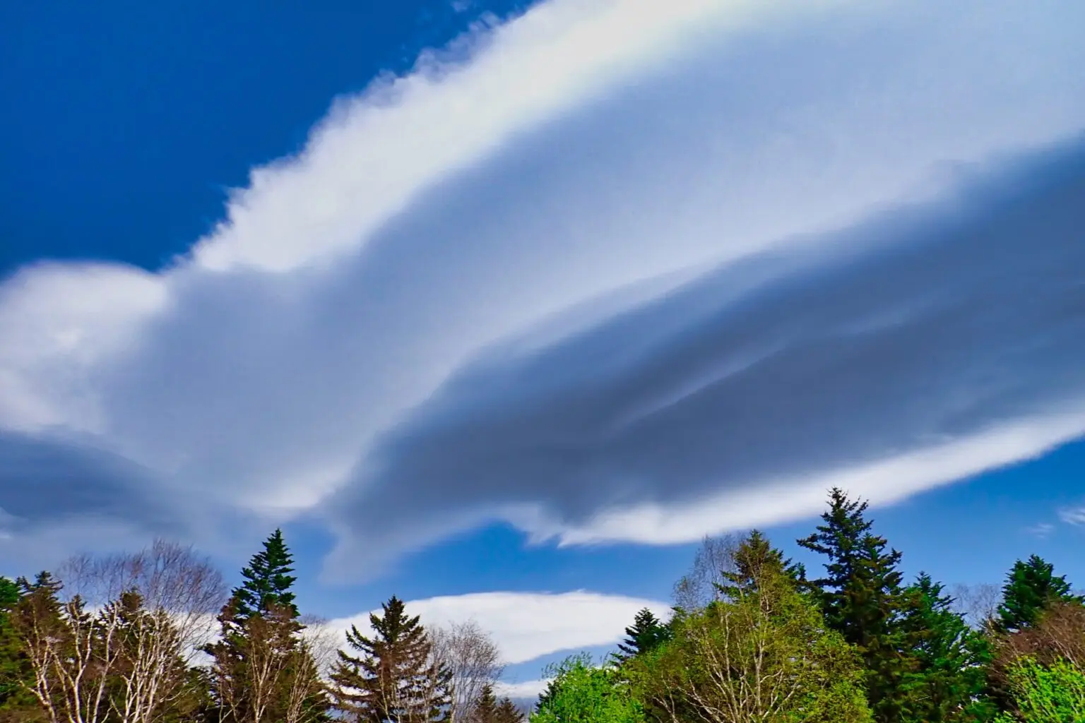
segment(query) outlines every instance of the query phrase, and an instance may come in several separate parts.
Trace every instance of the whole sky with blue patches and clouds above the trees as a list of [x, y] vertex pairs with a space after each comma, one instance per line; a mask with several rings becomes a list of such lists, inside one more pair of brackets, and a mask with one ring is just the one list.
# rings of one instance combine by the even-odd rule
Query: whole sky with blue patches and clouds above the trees
[[1085, 586], [1085, 5], [0, 8], [0, 572], [282, 527], [506, 690], [826, 490]]

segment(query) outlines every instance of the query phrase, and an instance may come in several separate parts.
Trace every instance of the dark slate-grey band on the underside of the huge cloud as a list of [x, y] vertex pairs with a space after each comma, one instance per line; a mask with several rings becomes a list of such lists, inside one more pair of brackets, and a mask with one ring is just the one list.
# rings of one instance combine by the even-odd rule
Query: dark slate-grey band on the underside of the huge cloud
[[357, 564], [361, 542], [472, 511], [538, 505], [575, 527], [1081, 412], [1083, 193], [1078, 142], [540, 350], [494, 349], [328, 509]]

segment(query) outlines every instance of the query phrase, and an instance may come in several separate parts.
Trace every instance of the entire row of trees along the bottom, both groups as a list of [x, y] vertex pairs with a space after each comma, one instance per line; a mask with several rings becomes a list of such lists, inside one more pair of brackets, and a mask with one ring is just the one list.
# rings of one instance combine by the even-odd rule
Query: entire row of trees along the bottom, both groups
[[[531, 723], [1085, 723], [1085, 598], [1039, 557], [968, 605], [832, 490], [797, 543], [705, 540], [666, 620], [641, 610], [603, 661], [551, 667]], [[227, 591], [191, 548], [0, 578], [0, 723], [521, 723], [475, 623], [397, 597], [372, 633], [297, 609], [280, 531]], [[982, 592], [982, 591], [981, 591]], [[485, 624], [485, 621], [482, 621]], [[367, 631], [368, 632], [368, 631]]]

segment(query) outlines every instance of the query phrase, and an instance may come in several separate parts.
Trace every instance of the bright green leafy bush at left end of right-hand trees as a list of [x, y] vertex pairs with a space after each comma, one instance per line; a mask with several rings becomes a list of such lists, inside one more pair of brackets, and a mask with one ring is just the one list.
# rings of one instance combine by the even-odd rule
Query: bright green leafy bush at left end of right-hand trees
[[595, 666], [585, 654], [549, 666], [551, 681], [531, 723], [642, 723], [641, 705], [613, 666]]

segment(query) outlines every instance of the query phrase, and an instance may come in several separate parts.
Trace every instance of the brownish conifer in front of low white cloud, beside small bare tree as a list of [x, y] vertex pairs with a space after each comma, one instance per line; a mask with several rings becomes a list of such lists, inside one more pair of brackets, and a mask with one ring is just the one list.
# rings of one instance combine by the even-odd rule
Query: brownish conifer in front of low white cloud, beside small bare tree
[[358, 723], [429, 723], [451, 703], [451, 673], [431, 660], [431, 643], [418, 616], [408, 617], [393, 596], [371, 614], [367, 637], [352, 625], [347, 644], [361, 655], [339, 651], [332, 671], [336, 707]]

